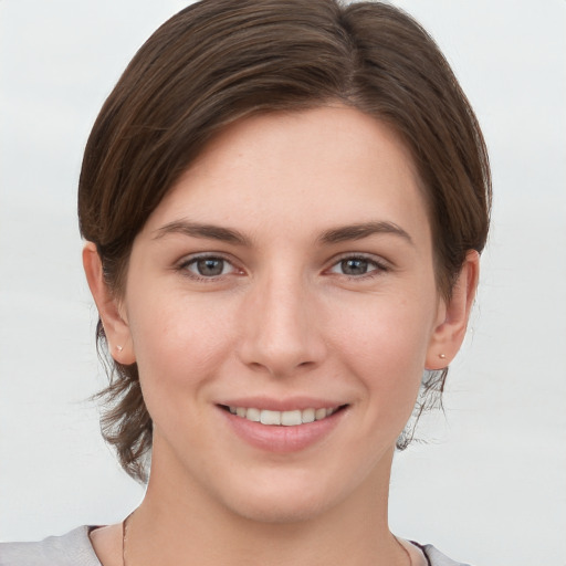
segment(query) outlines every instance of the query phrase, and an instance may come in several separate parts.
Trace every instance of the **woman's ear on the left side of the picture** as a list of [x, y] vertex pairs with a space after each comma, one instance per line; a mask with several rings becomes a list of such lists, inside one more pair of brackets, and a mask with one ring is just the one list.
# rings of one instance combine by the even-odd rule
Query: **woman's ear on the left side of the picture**
[[104, 281], [102, 261], [93, 242], [86, 242], [83, 248], [83, 268], [104, 326], [112, 357], [118, 364], [126, 366], [134, 364], [136, 357], [128, 323], [122, 314], [118, 298]]

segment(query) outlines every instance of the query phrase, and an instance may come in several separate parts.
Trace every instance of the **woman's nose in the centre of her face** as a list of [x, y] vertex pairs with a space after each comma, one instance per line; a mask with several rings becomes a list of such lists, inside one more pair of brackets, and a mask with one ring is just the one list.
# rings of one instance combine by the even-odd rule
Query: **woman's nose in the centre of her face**
[[319, 365], [325, 344], [315, 303], [308, 285], [289, 273], [272, 273], [253, 285], [241, 314], [241, 360], [274, 377]]

